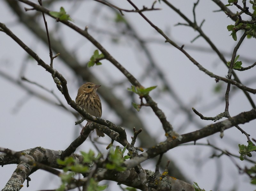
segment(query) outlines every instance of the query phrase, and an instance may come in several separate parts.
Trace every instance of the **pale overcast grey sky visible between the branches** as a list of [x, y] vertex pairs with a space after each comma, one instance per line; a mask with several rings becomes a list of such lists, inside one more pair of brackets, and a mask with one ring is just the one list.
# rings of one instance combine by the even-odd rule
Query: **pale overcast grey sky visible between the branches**
[[[37, 3], [36, 0], [33, 2]], [[43, 1], [44, 2], [44, 1]], [[76, 3], [74, 3], [76, 2]], [[129, 41], [129, 39], [121, 37], [120, 43], [112, 43], [112, 39], [108, 35], [97, 33], [95, 29], [107, 30], [115, 33], [113, 19], [115, 15], [109, 11], [109, 8], [102, 6], [94, 1], [74, 1], [72, 3], [67, 1], [60, 1], [54, 4], [53, 11], [58, 11], [60, 6], [70, 13], [71, 18], [75, 20], [75, 24], [81, 28], [89, 27], [89, 33], [99, 40], [102, 45], [119, 61], [128, 71], [130, 71], [145, 87], [158, 85], [158, 89], [152, 91], [151, 95], [158, 103], [158, 106], [165, 112], [168, 121], [170, 121], [175, 130], [182, 126], [186, 116], [183, 112], [178, 110], [177, 103], [174, 102], [170, 95], [161, 92], [161, 84], [155, 80], [152, 73], [144, 79], [140, 79], [141, 75], [145, 75], [145, 68], [148, 65], [148, 60], [145, 58], [143, 52], [140, 51], [137, 43]], [[135, 2], [135, 1], [134, 1]], [[139, 7], [146, 5], [151, 6], [153, 1], [135, 2]], [[227, 1], [222, 1], [227, 4]], [[112, 1], [113, 4], [125, 9], [132, 9], [126, 1]], [[186, 16], [193, 20], [192, 8], [195, 1], [175, 0], [172, 3], [180, 9]], [[24, 7], [29, 7], [23, 4]], [[209, 45], [203, 38], [197, 39], [193, 44], [190, 41], [198, 35], [193, 29], [186, 26], [174, 26], [175, 24], [185, 21], [180, 18], [174, 11], [166, 7], [164, 3], [155, 5], [156, 8], [161, 8], [159, 11], [145, 12], [145, 15], [159, 28], [161, 28], [169, 37], [177, 44], [184, 44], [184, 49], [196, 59], [206, 69], [212, 71], [214, 74], [225, 77], [227, 75], [227, 67], [220, 61], [218, 56], [213, 52], [207, 52], [210, 49]], [[234, 12], [236, 9], [230, 7]], [[236, 45], [232, 39], [227, 26], [234, 24], [230, 18], [227, 18], [223, 12], [213, 12], [219, 10], [218, 6], [210, 0], [200, 1], [196, 8], [196, 19], [200, 23], [205, 19], [202, 29], [210, 39], [214, 42], [217, 48], [227, 53], [226, 60], [231, 59], [231, 53]], [[31, 11], [31, 14], [34, 11]], [[163, 71], [168, 82], [176, 91], [180, 99], [184, 100], [186, 107], [191, 109], [195, 107], [205, 116], [216, 116], [225, 109], [223, 102], [219, 104], [220, 99], [224, 98], [224, 91], [221, 94], [213, 92], [216, 82], [213, 78], [208, 77], [202, 71], [188, 60], [179, 50], [173, 48], [171, 45], [164, 43], [164, 38], [149, 26], [137, 13], [124, 12], [125, 19], [132, 23], [136, 28], [136, 32], [145, 40], [152, 41], [148, 43], [152, 57], [157, 63], [158, 67]], [[28, 29], [17, 22], [17, 17], [12, 13], [4, 1], [0, 1], [0, 22], [5, 23], [12, 32], [17, 35], [25, 44], [32, 48], [44, 62], [50, 62], [49, 49], [45, 44], [36, 39], [35, 35], [30, 33]], [[46, 16], [48, 26], [51, 32], [54, 32], [54, 27], [58, 25], [60, 30], [54, 33], [55, 38], [61, 39], [69, 50], [74, 52], [74, 55], [81, 62], [86, 62], [96, 49], [88, 40], [83, 39], [78, 33], [72, 31], [67, 26], [62, 26], [56, 23], [52, 18]], [[43, 26], [42, 20], [38, 20]], [[119, 30], [121, 30], [119, 28]], [[108, 38], [106, 38], [106, 36]], [[238, 39], [241, 33], [238, 33]], [[0, 33], [0, 71], [10, 76], [14, 80], [19, 80], [21, 76], [25, 76], [31, 81], [42, 84], [54, 93], [65, 103], [61, 93], [57, 90], [52, 77], [42, 67], [38, 66], [34, 60], [27, 59], [27, 54], [20, 48], [9, 36], [5, 33]], [[198, 51], [195, 47], [202, 47], [203, 50]], [[205, 51], [205, 52], [204, 52]], [[255, 62], [255, 39], [245, 39], [241, 48], [238, 51], [241, 58], [247, 58], [251, 62], [243, 61], [243, 66], [249, 66]], [[98, 67], [92, 67], [90, 70], [99, 76], [102, 80], [103, 86], [109, 88], [113, 87], [120, 81], [127, 81], [125, 77], [119, 72], [111, 63], [103, 61], [103, 64]], [[68, 81], [69, 93], [73, 100], [75, 100], [77, 89], [80, 82], [77, 81], [73, 73], [62, 63], [58, 58], [54, 60], [54, 68], [57, 69]], [[151, 71], [152, 72], [152, 71]], [[250, 71], [238, 73], [242, 82], [253, 79], [255, 77], [255, 69]], [[39, 92], [45, 98], [57, 102], [52, 94], [42, 90], [34, 84], [22, 82], [24, 86]], [[223, 84], [226, 88], [226, 84]], [[256, 88], [255, 80], [248, 85], [251, 88]], [[31, 96], [24, 89], [17, 84], [0, 75], [1, 99], [0, 99], [0, 147], [9, 148], [14, 151], [21, 151], [36, 146], [52, 150], [65, 150], [67, 146], [79, 136], [80, 129], [75, 126], [76, 118], [61, 109], [60, 107], [48, 104], [42, 99]], [[128, 81], [125, 86], [115, 88], [117, 96], [127, 99], [124, 101], [126, 105], [131, 104], [128, 99], [127, 88], [130, 87]], [[160, 93], [160, 95], [159, 95]], [[256, 101], [255, 95], [252, 99]], [[138, 100], [137, 100], [138, 101]], [[231, 116], [237, 115], [244, 111], [251, 110], [248, 100], [245, 98], [242, 91], [231, 90], [229, 112]], [[72, 110], [66, 103], [65, 105]], [[217, 105], [216, 107], [213, 107]], [[114, 112], [108, 108], [107, 104], [102, 101], [102, 118], [118, 123], [118, 117]], [[175, 109], [177, 108], [177, 109]], [[140, 117], [147, 127], [150, 134], [160, 142], [164, 141], [164, 131], [161, 128], [160, 121], [156, 118], [150, 108], [142, 108]], [[195, 117], [203, 125], [212, 123], [211, 121], [201, 121], [199, 117]], [[247, 133], [255, 138], [255, 121], [248, 124], [241, 125]], [[136, 127], [139, 129], [139, 127]], [[193, 124], [187, 124], [185, 129], [180, 129], [179, 133], [188, 133], [196, 130]], [[131, 137], [131, 132], [127, 132]], [[238, 144], [246, 144], [246, 137], [235, 128], [228, 129], [224, 132], [223, 139], [220, 139], [219, 133], [207, 137], [207, 139], [199, 140], [197, 143], [207, 143], [209, 140], [212, 144], [219, 146], [221, 149], [238, 154]], [[95, 133], [92, 135], [95, 137]], [[109, 137], [101, 138], [100, 142], [105, 143], [100, 145], [100, 150], [106, 152], [105, 147], [110, 142]], [[138, 143], [139, 144], [139, 143]], [[79, 150], [89, 151], [94, 149], [90, 141], [84, 143]], [[240, 175], [238, 169], [231, 162], [227, 156], [222, 156], [219, 159], [210, 159], [212, 150], [206, 146], [179, 146], [166, 153], [172, 158], [174, 162], [179, 165], [182, 172], [193, 182], [197, 182], [201, 188], [211, 190], [214, 187], [216, 178], [219, 177], [221, 181], [220, 190], [231, 190], [235, 185], [236, 190], [253, 190], [250, 180], [246, 175]], [[255, 160], [255, 157], [252, 159]], [[142, 164], [147, 169], [154, 170], [155, 163], [153, 160], [146, 161]], [[236, 162], [244, 167], [248, 165], [246, 162], [236, 160]], [[218, 166], [219, 168], [217, 168]], [[248, 165], [248, 167], [250, 167]], [[5, 165], [0, 169], [0, 188], [2, 189], [6, 182], [11, 177], [16, 165]], [[220, 176], [222, 174], [222, 176]], [[60, 180], [49, 173], [42, 170], [30, 176], [32, 181], [28, 188], [23, 187], [22, 190], [32, 191], [40, 189], [55, 189], [60, 185]], [[56, 183], [57, 182], [57, 183]], [[26, 185], [24, 183], [24, 185]], [[116, 188], [116, 183], [113, 183], [108, 190]], [[117, 187], [118, 188], [118, 187]]]

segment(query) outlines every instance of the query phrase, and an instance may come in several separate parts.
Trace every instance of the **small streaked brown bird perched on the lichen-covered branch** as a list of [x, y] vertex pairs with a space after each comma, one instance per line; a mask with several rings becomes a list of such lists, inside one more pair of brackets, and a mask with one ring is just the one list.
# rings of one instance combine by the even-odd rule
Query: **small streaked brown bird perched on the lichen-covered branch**
[[[76, 103], [80, 107], [84, 108], [86, 112], [95, 117], [101, 117], [102, 113], [100, 97], [96, 93], [97, 88], [100, 86], [101, 85], [95, 85], [91, 82], [87, 82], [78, 89], [76, 96]], [[87, 121], [87, 124], [92, 122], [90, 120]], [[96, 129], [96, 133], [97, 136], [105, 136], [104, 133], [102, 133], [99, 129]]]

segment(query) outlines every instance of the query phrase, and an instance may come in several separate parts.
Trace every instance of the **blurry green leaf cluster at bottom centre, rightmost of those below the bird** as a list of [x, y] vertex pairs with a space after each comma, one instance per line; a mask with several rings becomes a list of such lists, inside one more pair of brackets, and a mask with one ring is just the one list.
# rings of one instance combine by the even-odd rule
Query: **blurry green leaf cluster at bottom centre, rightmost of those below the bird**
[[109, 154], [108, 154], [106, 168], [109, 170], [116, 170], [119, 172], [125, 171], [126, 167], [123, 165], [124, 160], [130, 158], [130, 156], [128, 156], [128, 155], [123, 156], [125, 150], [126, 150], [126, 146], [124, 147], [123, 151], [122, 151], [122, 149], [119, 149], [119, 146], [116, 146], [115, 151], [111, 147]]

